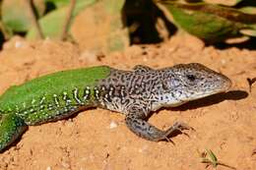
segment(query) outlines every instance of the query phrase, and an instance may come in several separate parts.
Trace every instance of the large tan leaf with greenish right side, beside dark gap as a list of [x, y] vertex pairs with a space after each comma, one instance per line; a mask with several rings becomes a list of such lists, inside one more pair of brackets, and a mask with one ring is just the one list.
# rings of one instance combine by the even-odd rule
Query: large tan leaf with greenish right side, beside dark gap
[[[122, 50], [129, 45], [128, 28], [123, 27], [122, 8], [125, 0], [101, 0], [82, 14], [72, 37], [87, 49], [103, 52]], [[86, 39], [86, 40], [85, 40]]]

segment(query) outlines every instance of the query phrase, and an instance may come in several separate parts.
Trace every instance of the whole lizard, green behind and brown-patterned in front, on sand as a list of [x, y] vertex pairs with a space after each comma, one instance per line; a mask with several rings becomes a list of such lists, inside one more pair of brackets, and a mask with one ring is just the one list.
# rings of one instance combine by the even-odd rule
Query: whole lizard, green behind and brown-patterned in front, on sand
[[199, 63], [159, 70], [137, 65], [130, 71], [96, 66], [61, 71], [13, 85], [0, 96], [0, 151], [28, 130], [58, 121], [92, 107], [123, 113], [125, 124], [137, 136], [168, 141], [190, 127], [175, 122], [162, 131], [147, 120], [162, 107], [224, 92], [231, 81]]

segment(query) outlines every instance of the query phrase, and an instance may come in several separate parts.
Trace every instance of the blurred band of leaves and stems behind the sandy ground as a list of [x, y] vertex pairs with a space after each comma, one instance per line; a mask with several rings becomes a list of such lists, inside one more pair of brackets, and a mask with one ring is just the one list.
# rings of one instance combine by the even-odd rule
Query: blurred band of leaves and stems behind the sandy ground
[[[157, 43], [177, 30], [207, 43], [256, 36], [255, 0], [1, 0], [0, 6], [1, 43], [16, 34], [76, 41], [70, 28], [82, 11], [90, 12], [94, 27], [109, 27], [96, 35], [109, 51], [127, 42]], [[103, 25], [104, 18], [111, 25]]]

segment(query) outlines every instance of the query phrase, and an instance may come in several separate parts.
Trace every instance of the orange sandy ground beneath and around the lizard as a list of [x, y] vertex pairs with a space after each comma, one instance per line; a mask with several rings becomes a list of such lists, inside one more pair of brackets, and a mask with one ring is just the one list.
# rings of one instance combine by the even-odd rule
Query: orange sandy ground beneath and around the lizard
[[[0, 154], [1, 170], [200, 170], [199, 152], [212, 149], [237, 170], [256, 169], [256, 50], [216, 49], [188, 35], [172, 36], [158, 45], [131, 46], [123, 52], [98, 55], [69, 42], [28, 42], [19, 37], [0, 52], [0, 93], [10, 85], [73, 68], [109, 65], [132, 69], [178, 63], [202, 63], [232, 80], [227, 93], [162, 109], [149, 120], [160, 129], [183, 121], [195, 129], [171, 142], [148, 142], [132, 134], [124, 116], [90, 109], [78, 116], [30, 127], [22, 139]], [[68, 84], [68, 83], [67, 83]], [[209, 167], [212, 169], [212, 167]], [[218, 166], [218, 170], [226, 167]]]

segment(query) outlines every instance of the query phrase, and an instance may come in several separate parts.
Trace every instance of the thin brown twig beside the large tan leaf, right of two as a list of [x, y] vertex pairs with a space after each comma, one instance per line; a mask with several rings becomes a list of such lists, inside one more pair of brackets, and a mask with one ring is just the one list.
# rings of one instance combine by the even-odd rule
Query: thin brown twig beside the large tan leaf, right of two
[[60, 36], [61, 40], [65, 40], [67, 38], [68, 29], [69, 29], [69, 25], [71, 23], [72, 14], [73, 14], [75, 5], [76, 5], [76, 0], [71, 0], [70, 8], [69, 8], [68, 14], [67, 14], [66, 19], [65, 19], [65, 23], [64, 23], [63, 28], [62, 28], [62, 33], [61, 33], [61, 36]]

